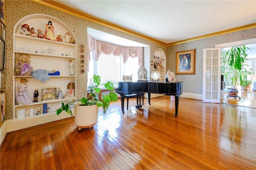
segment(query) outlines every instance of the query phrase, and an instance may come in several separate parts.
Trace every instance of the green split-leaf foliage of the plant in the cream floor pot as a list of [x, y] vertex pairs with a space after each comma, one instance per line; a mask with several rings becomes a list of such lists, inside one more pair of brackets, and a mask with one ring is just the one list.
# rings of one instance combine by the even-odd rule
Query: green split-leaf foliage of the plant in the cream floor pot
[[[106, 113], [110, 105], [110, 101], [117, 101], [118, 97], [117, 94], [113, 91], [114, 84], [112, 82], [108, 81], [102, 85], [100, 84], [100, 82], [100, 76], [93, 75], [93, 78], [92, 80], [90, 80], [88, 87], [90, 95], [88, 95], [87, 97], [82, 97], [82, 99], [76, 101], [80, 101], [82, 103], [82, 106], [97, 105], [98, 107], [103, 108], [103, 113]], [[100, 101], [98, 96], [100, 93], [100, 87], [103, 85], [107, 90], [110, 90], [110, 92], [108, 93], [108, 95], [104, 95], [102, 101]], [[62, 106], [56, 112], [57, 115], [59, 115], [62, 111], [66, 111], [66, 113], [72, 116], [72, 111], [70, 110], [69, 105], [75, 103], [76, 101], [69, 102], [66, 105], [62, 103]]]

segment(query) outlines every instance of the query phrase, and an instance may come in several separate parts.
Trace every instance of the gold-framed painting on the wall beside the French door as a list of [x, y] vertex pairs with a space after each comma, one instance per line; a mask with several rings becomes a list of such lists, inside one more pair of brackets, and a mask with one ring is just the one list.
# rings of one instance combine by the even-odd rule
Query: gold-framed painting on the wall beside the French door
[[176, 52], [176, 74], [195, 74], [196, 49]]

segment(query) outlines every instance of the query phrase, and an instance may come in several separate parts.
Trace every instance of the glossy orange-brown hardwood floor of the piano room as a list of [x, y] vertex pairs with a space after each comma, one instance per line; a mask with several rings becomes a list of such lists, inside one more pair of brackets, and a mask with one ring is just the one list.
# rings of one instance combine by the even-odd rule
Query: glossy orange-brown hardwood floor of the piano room
[[[169, 96], [111, 103], [93, 129], [74, 118], [6, 135], [0, 169], [256, 169], [256, 109], [180, 98], [178, 117]], [[126, 106], [126, 103], [125, 103]]]

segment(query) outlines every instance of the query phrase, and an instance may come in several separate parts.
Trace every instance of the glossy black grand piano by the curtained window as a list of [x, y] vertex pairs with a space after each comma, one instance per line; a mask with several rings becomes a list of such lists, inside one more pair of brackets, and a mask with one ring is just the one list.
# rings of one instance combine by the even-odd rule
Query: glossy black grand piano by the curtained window
[[164, 94], [175, 96], [175, 117], [178, 116], [180, 95], [182, 94], [183, 82], [156, 82], [156, 81], [120, 81], [116, 93], [121, 96], [122, 113], [124, 113], [124, 96], [130, 94], [148, 93], [148, 104], [150, 105], [150, 94]]

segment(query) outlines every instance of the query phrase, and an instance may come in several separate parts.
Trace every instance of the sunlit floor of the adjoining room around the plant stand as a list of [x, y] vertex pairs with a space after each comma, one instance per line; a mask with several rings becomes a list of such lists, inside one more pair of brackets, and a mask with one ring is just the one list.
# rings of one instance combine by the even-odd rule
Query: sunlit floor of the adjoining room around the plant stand
[[226, 90], [222, 90], [221, 103], [256, 108], [256, 91], [252, 91], [249, 88], [247, 91], [241, 91], [239, 89], [238, 96], [240, 96], [241, 99], [238, 97], [236, 99], [234, 99], [234, 97], [227, 98], [227, 96], [228, 93], [226, 93]]

